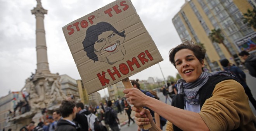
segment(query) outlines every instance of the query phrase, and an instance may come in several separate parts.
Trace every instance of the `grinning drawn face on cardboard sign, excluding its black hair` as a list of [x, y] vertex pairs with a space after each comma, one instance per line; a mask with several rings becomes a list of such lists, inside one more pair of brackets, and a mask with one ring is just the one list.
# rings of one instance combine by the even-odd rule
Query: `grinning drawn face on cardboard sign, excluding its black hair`
[[114, 64], [124, 59], [124, 40], [124, 37], [119, 36], [113, 31], [102, 32], [94, 44], [94, 52], [98, 60], [108, 64]]

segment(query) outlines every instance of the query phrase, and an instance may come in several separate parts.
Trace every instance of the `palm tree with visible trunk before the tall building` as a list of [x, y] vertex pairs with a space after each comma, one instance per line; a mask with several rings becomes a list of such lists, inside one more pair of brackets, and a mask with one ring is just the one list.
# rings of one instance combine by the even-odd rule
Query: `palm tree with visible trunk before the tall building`
[[224, 47], [227, 49], [228, 53], [230, 54], [230, 56], [233, 58], [233, 55], [231, 54], [231, 52], [228, 50], [228, 47], [224, 44], [224, 37], [221, 34], [221, 29], [213, 29], [211, 30], [211, 32], [209, 33], [209, 38], [211, 39], [212, 42], [216, 42], [219, 44], [224, 45]]

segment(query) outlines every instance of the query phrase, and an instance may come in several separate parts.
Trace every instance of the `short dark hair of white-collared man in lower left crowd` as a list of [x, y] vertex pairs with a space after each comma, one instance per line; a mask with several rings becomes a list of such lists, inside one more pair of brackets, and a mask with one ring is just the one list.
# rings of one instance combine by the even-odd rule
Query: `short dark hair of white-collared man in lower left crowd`
[[67, 101], [67, 100], [63, 100], [61, 102], [61, 106], [59, 108], [61, 116], [63, 118], [67, 118], [70, 114], [73, 113], [73, 109], [76, 106], [74, 101]]

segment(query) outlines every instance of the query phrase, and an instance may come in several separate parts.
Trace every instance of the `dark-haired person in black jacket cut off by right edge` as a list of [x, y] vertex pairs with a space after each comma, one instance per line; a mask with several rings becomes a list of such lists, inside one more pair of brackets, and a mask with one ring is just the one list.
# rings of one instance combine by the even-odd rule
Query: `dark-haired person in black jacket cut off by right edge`
[[248, 69], [249, 74], [256, 77], [256, 55], [249, 54], [247, 51], [242, 51], [239, 56], [244, 59], [244, 66]]

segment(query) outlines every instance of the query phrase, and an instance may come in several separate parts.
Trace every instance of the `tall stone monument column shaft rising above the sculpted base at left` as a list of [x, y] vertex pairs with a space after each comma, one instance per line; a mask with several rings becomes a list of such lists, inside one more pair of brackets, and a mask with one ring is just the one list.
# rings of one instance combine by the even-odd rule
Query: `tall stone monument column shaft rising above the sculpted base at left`
[[42, 7], [41, 0], [36, 0], [36, 7], [31, 10], [32, 14], [36, 16], [36, 55], [37, 55], [37, 71], [36, 74], [48, 74], [50, 73], [48, 59], [47, 59], [47, 47], [45, 39], [45, 27], [43, 23], [44, 14], [47, 14], [47, 10]]

